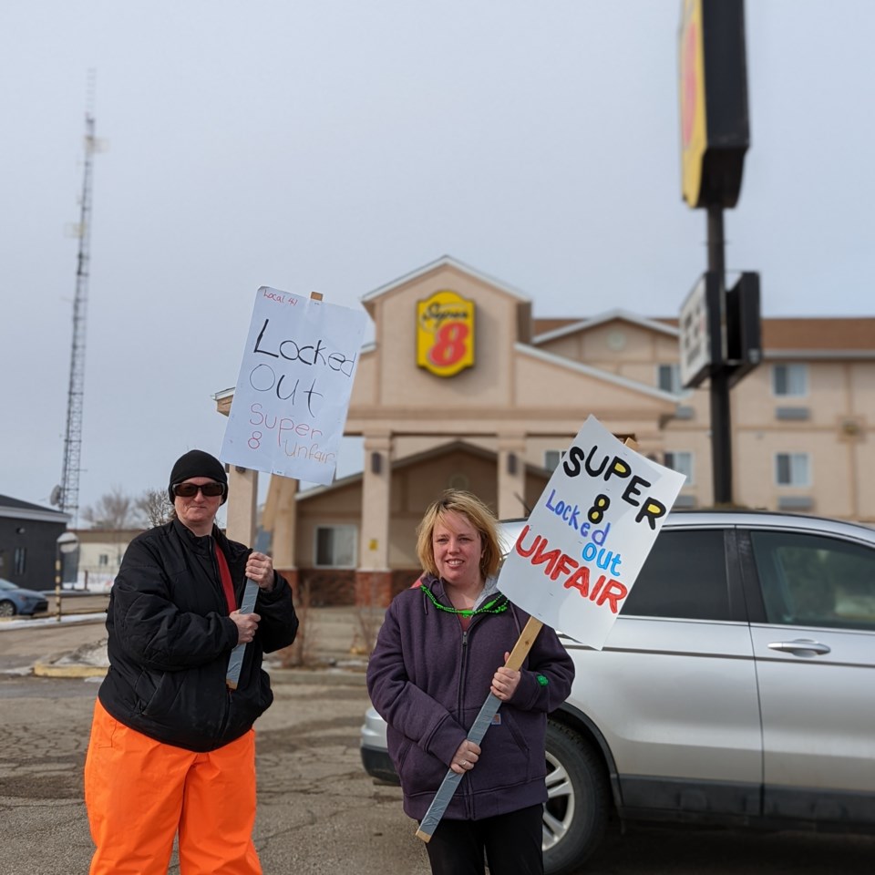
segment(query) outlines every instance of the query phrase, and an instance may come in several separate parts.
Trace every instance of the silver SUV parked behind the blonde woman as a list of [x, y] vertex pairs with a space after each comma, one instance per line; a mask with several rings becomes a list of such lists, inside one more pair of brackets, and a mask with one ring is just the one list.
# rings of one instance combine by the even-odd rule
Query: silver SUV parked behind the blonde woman
[[[502, 524], [509, 544], [522, 524]], [[548, 875], [612, 817], [875, 831], [875, 530], [674, 511], [603, 650], [564, 643], [577, 676], [548, 726]], [[373, 708], [362, 761], [397, 782]]]

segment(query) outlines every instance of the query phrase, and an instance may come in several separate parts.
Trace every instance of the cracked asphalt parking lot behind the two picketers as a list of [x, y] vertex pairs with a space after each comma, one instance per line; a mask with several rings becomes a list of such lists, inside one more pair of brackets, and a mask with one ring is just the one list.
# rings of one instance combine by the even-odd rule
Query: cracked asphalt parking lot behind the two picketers
[[[364, 660], [348, 624], [348, 661], [335, 617], [324, 621], [324, 662], [335, 668], [274, 668], [274, 704], [257, 725], [259, 809], [255, 841], [265, 872], [427, 873], [416, 826], [396, 787], [376, 786], [358, 751], [367, 693]], [[35, 675], [90, 653], [99, 621], [0, 629], [0, 875], [85, 872], [91, 840], [82, 794], [88, 728], [100, 677], [69, 670]], [[88, 663], [93, 663], [89, 659]], [[93, 667], [85, 665], [85, 668]], [[174, 864], [170, 871], [178, 871]]]

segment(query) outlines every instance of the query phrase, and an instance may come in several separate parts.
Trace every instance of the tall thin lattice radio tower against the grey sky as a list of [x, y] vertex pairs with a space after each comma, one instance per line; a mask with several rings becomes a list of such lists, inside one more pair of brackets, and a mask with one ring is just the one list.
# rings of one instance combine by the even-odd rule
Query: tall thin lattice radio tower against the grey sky
[[91, 163], [98, 151], [91, 112], [93, 76], [88, 80], [88, 110], [85, 114], [85, 176], [77, 236], [79, 254], [76, 270], [76, 297], [73, 300], [73, 346], [70, 352], [70, 385], [67, 392], [67, 433], [64, 438], [64, 468], [61, 482], [52, 492], [52, 503], [70, 514], [77, 527], [79, 510], [79, 466], [82, 457], [82, 400], [85, 390], [85, 335], [88, 311], [88, 260], [91, 243]]

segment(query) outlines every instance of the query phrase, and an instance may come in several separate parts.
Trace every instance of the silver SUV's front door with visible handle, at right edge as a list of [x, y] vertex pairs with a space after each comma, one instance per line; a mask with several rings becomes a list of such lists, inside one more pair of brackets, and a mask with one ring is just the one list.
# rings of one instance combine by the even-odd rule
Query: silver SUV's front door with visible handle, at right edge
[[875, 549], [798, 531], [750, 537], [767, 619], [751, 626], [764, 813], [875, 822]]

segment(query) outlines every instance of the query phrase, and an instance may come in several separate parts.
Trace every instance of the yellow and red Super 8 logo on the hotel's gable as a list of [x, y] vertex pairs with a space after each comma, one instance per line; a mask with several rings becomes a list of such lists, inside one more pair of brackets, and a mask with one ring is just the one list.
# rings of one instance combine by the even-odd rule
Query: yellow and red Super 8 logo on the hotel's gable
[[474, 365], [474, 302], [444, 290], [417, 303], [417, 365], [455, 376]]

